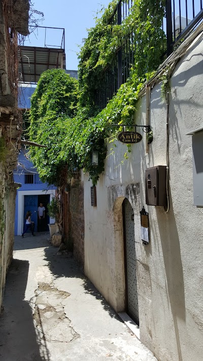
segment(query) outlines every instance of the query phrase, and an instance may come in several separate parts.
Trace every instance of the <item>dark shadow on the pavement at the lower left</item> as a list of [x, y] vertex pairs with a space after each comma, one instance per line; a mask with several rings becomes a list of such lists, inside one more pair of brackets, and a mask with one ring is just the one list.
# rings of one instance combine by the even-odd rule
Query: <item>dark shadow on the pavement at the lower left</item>
[[0, 316], [0, 359], [4, 361], [49, 360], [46, 345], [40, 347], [35, 332], [31, 305], [24, 300], [28, 271], [27, 260], [13, 259], [7, 275]]

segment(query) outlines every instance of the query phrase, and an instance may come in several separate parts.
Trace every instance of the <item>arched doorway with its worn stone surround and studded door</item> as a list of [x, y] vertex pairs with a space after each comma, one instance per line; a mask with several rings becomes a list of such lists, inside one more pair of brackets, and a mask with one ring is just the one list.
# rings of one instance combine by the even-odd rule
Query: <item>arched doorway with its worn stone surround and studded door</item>
[[[109, 211], [113, 214], [114, 308], [126, 312], [139, 325], [136, 234], [140, 220], [139, 183], [108, 188]], [[134, 221], [135, 219], [135, 221]], [[137, 240], [138, 241], [138, 240]]]

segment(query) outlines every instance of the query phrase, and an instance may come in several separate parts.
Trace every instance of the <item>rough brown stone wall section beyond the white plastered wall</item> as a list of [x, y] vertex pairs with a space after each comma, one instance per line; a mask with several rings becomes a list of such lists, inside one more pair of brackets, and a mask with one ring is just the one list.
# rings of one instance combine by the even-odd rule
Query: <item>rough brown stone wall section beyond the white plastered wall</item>
[[84, 188], [79, 180], [72, 182], [70, 192], [71, 238], [74, 257], [84, 268]]

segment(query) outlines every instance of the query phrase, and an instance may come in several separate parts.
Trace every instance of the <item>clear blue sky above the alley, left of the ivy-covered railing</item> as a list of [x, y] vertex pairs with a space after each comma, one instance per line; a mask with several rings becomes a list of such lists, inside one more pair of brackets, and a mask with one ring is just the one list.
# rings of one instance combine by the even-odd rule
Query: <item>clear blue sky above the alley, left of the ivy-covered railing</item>
[[[111, 0], [32, 0], [33, 8], [44, 13], [44, 20], [39, 25], [65, 29], [66, 69], [78, 69], [78, 45], [87, 37], [86, 29], [95, 26], [97, 10], [107, 8], [110, 2]], [[30, 35], [24, 45], [44, 47], [45, 30], [39, 28], [35, 34]], [[61, 39], [62, 30], [47, 29], [47, 45], [60, 45]]]

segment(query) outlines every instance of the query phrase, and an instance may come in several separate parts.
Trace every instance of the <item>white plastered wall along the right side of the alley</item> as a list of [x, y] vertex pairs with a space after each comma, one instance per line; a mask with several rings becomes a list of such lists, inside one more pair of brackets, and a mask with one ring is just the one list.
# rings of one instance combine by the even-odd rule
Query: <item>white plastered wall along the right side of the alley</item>
[[[145, 169], [166, 165], [166, 105], [161, 100], [161, 84], [151, 90], [154, 140], [149, 153], [141, 130], [143, 141], [131, 146], [129, 158], [121, 166], [126, 147], [117, 143], [96, 186], [97, 207], [91, 207], [91, 182], [84, 175], [85, 273], [116, 311], [124, 310], [122, 226], [116, 229], [119, 222], [110, 198], [117, 194], [121, 204], [126, 187], [140, 184], [134, 204], [131, 202], [140, 334], [141, 341], [161, 361], [201, 361], [203, 354], [203, 210], [193, 205], [192, 139], [186, 136], [203, 126], [202, 73], [203, 43], [199, 40], [178, 62], [171, 78], [168, 213], [162, 207], [146, 206], [144, 196]], [[135, 119], [137, 124], [145, 124], [145, 96], [137, 104]], [[149, 212], [148, 246], [143, 246], [140, 235], [139, 211], [143, 205]]]

